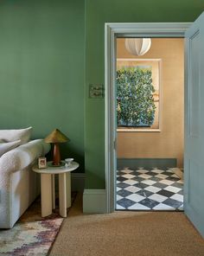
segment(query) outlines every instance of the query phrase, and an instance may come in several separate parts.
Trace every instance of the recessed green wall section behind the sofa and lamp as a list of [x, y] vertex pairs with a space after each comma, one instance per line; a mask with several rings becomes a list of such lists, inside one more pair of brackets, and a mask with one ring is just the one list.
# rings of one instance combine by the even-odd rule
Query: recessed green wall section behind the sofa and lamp
[[84, 170], [84, 0], [0, 2], [0, 129], [54, 128]]

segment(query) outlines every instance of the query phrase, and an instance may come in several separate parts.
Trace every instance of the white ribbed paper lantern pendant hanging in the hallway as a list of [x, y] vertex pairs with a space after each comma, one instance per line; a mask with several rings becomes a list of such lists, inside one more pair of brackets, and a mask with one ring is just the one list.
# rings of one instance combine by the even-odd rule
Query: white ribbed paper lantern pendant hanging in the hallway
[[125, 38], [125, 48], [133, 55], [146, 54], [150, 50], [150, 46], [150, 38]]

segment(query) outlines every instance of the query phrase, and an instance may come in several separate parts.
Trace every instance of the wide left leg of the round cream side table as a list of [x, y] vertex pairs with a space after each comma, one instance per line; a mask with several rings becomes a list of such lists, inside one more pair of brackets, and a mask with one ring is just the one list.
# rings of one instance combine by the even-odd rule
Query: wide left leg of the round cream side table
[[41, 217], [52, 214], [51, 175], [41, 173]]

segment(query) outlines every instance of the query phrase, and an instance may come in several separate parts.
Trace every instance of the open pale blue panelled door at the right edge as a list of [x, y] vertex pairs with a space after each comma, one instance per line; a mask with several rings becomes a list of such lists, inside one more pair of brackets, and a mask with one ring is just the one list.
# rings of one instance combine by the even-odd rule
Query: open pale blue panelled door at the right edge
[[204, 236], [204, 13], [185, 37], [184, 210]]

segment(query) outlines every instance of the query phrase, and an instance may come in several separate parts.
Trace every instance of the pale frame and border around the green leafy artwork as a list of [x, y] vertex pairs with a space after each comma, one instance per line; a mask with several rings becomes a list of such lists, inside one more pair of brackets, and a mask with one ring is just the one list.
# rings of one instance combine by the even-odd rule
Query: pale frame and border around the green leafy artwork
[[[118, 71], [119, 70], [130, 70], [130, 69], [140, 69], [144, 71], [150, 71], [152, 85], [154, 87], [152, 92], [153, 102], [151, 105], [154, 107], [154, 112], [152, 113], [151, 122], [149, 124], [143, 123], [141, 120], [137, 122], [137, 125], [130, 124], [126, 122], [124, 124], [123, 120], [118, 120], [117, 131], [161, 131], [162, 124], [162, 60], [161, 59], [134, 59], [134, 58], [118, 58], [117, 59], [117, 100], [119, 99], [118, 93]], [[128, 72], [127, 72], [128, 73]], [[124, 92], [122, 92], [122, 95]], [[118, 101], [117, 101], [117, 117], [118, 117]], [[119, 109], [120, 110], [120, 109]], [[127, 109], [126, 109], [127, 112]], [[137, 112], [137, 111], [136, 111]], [[143, 118], [144, 119], [144, 118]], [[139, 123], [139, 124], [138, 124]]]

